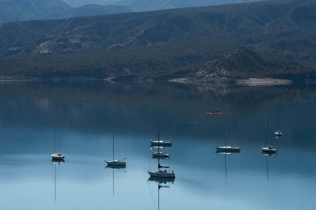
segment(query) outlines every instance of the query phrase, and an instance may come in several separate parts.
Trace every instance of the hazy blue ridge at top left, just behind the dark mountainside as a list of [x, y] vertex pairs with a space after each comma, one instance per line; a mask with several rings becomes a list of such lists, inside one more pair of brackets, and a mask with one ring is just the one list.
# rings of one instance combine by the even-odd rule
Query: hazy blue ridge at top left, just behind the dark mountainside
[[60, 19], [132, 12], [121, 5], [84, 5], [71, 8], [62, 0], [0, 0], [0, 23], [19, 20]]

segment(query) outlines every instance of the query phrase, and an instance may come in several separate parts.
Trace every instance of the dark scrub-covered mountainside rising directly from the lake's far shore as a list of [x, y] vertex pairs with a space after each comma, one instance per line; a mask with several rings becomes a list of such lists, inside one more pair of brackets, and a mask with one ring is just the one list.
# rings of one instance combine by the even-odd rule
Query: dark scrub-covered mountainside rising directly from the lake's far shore
[[315, 0], [11, 22], [1, 77], [313, 80], [315, 26]]

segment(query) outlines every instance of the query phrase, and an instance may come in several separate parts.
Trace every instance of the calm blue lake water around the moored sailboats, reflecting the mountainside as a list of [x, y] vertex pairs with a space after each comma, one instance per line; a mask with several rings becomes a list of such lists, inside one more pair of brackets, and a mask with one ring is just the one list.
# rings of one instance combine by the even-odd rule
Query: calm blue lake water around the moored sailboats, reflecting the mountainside
[[[158, 189], [160, 209], [316, 207], [316, 84], [3, 81], [0, 97], [1, 209], [158, 209]], [[173, 141], [161, 165], [175, 180], [147, 173], [158, 164], [149, 139], [159, 112], [161, 137]], [[277, 112], [281, 139], [273, 135]], [[227, 142], [240, 153], [216, 153], [226, 116]], [[260, 148], [268, 116], [272, 156]], [[50, 156], [55, 117], [64, 162]], [[113, 134], [125, 168], [104, 165]]]

